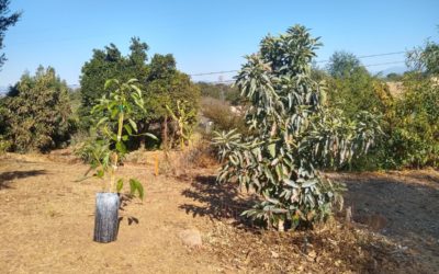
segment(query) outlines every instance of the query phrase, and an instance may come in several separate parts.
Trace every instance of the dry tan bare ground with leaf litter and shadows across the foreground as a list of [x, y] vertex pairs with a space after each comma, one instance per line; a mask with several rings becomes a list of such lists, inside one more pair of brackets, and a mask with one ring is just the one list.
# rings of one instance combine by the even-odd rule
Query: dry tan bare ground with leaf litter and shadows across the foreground
[[[436, 171], [330, 174], [348, 185], [346, 205], [362, 224], [333, 220], [279, 233], [239, 217], [249, 202], [213, 183], [214, 169], [154, 176], [126, 164], [146, 187], [121, 210], [119, 239], [92, 241], [98, 180], [74, 182], [76, 161], [9, 155], [0, 159], [1, 273], [436, 273], [439, 175]], [[179, 233], [201, 231], [189, 248]]]

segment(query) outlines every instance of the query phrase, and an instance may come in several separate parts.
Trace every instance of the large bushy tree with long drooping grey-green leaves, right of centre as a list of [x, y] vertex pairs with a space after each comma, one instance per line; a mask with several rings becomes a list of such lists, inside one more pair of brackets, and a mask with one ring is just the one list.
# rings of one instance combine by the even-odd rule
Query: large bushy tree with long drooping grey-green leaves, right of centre
[[216, 133], [223, 167], [217, 181], [236, 180], [260, 201], [243, 213], [269, 228], [312, 227], [342, 205], [344, 186], [318, 170], [365, 153], [380, 128], [369, 113], [357, 121], [325, 103], [325, 84], [312, 79], [312, 60], [320, 46], [301, 25], [262, 39], [247, 56], [236, 85], [250, 103], [250, 135]]

